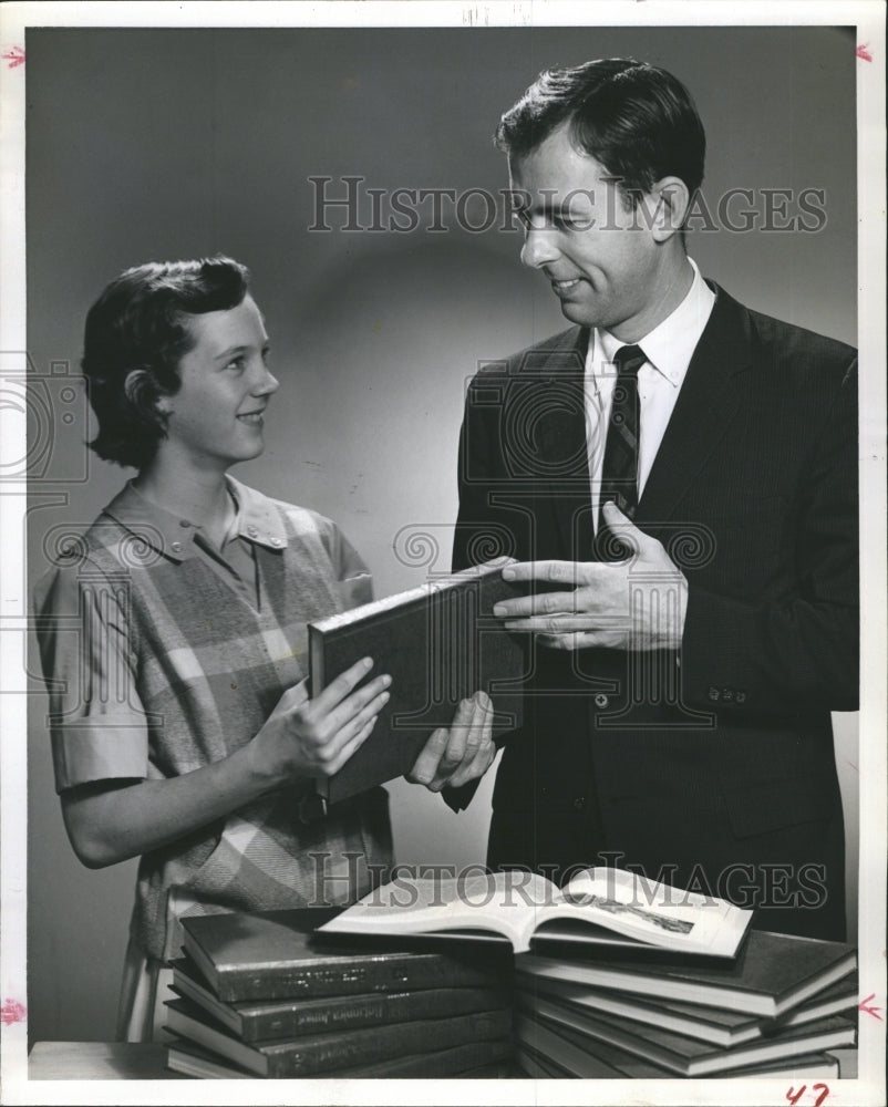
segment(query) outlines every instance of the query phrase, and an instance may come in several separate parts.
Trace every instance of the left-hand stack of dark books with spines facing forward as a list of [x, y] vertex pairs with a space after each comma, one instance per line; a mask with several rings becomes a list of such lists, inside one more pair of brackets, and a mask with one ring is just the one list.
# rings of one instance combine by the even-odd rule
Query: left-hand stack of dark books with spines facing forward
[[512, 1072], [510, 961], [331, 944], [329, 910], [184, 920], [168, 1067], [204, 1078], [476, 1077]]

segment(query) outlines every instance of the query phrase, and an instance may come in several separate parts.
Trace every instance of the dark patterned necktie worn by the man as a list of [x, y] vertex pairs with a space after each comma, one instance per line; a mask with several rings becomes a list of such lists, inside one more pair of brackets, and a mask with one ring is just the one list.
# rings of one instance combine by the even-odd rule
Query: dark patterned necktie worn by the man
[[598, 508], [599, 557], [605, 561], [619, 560], [628, 551], [608, 535], [602, 511], [608, 500], [632, 518], [638, 507], [638, 443], [639, 417], [638, 371], [648, 359], [641, 346], [620, 346], [613, 356], [617, 382], [610, 405], [608, 436], [605, 442], [605, 461], [601, 466], [601, 499]]

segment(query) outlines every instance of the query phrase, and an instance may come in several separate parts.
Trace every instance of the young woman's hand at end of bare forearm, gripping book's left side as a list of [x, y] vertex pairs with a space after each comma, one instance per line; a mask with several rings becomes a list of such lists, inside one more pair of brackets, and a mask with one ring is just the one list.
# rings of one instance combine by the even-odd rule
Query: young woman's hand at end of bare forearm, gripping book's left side
[[373, 666], [364, 658], [309, 700], [306, 682], [288, 689], [252, 739], [256, 772], [272, 786], [300, 776], [332, 776], [368, 737], [389, 699], [391, 677], [376, 676], [357, 692]]

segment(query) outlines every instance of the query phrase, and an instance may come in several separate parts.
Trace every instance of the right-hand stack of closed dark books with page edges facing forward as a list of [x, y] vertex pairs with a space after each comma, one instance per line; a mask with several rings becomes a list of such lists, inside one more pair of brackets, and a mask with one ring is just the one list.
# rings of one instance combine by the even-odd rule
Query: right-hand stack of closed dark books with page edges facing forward
[[839, 1076], [856, 964], [850, 945], [756, 930], [727, 961], [523, 954], [516, 1059], [536, 1077]]

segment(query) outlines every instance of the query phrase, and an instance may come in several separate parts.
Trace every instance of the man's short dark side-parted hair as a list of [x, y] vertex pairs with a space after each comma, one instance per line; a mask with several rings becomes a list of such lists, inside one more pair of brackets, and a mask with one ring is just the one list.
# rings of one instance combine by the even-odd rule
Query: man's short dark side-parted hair
[[503, 115], [494, 142], [519, 161], [562, 124], [632, 206], [663, 177], [681, 178], [692, 196], [703, 182], [706, 137], [694, 102], [655, 65], [608, 58], [547, 70]]

